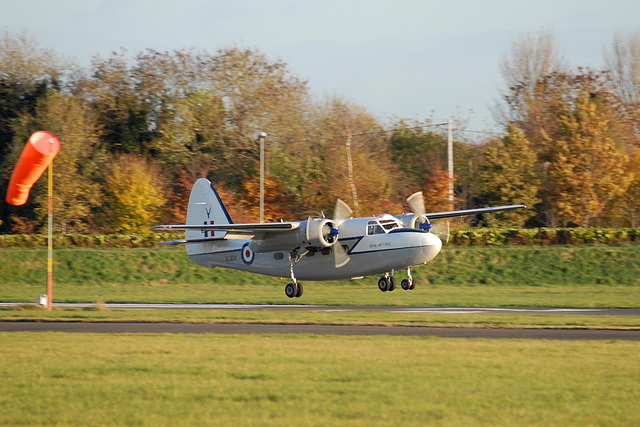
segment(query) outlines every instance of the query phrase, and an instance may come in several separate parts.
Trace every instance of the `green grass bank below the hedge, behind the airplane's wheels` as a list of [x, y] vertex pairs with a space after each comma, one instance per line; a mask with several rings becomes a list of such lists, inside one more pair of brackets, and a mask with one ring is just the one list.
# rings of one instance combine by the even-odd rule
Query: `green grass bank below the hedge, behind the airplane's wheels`
[[[181, 249], [58, 249], [54, 301], [337, 305], [640, 307], [640, 245], [445, 247], [414, 269], [417, 288], [381, 293], [377, 278], [305, 282], [192, 263]], [[45, 293], [46, 251], [0, 249], [0, 301]], [[404, 272], [398, 272], [403, 277]]]

